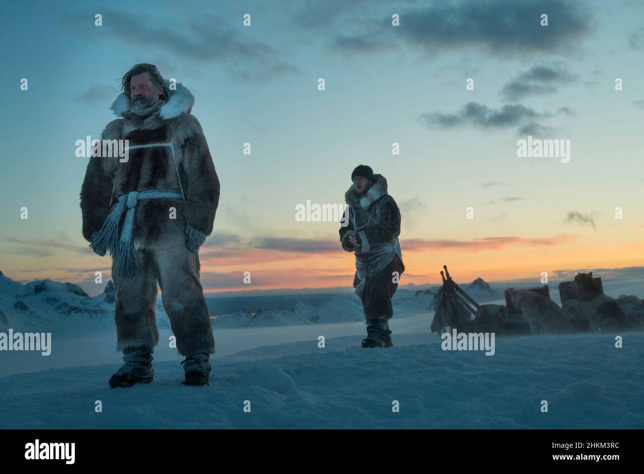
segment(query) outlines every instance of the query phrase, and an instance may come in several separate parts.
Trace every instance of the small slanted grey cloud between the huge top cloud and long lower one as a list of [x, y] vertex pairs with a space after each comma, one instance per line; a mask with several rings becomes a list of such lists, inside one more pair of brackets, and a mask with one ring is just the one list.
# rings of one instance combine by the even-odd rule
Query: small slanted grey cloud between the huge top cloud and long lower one
[[571, 84], [576, 80], [576, 75], [559, 65], [533, 66], [503, 86], [501, 95], [506, 100], [518, 100], [529, 95], [554, 94], [558, 92], [558, 85]]

